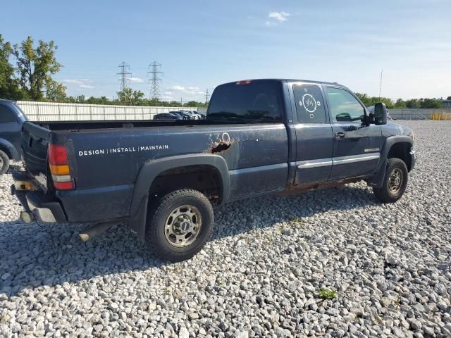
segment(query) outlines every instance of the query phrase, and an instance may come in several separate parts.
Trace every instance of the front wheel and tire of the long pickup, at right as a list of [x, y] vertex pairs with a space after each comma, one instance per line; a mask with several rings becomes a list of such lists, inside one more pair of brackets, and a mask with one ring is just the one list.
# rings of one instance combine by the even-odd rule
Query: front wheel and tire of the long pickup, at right
[[373, 188], [373, 193], [382, 203], [397, 201], [406, 190], [408, 175], [404, 161], [400, 158], [388, 158], [382, 187]]

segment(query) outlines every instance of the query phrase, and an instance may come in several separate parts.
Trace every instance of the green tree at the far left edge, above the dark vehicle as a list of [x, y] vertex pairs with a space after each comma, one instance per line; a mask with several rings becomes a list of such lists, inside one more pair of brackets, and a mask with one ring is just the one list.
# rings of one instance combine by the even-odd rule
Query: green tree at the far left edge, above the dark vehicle
[[18, 82], [14, 77], [14, 68], [9, 60], [13, 55], [11, 43], [5, 42], [0, 34], [0, 98], [19, 100], [23, 99]]

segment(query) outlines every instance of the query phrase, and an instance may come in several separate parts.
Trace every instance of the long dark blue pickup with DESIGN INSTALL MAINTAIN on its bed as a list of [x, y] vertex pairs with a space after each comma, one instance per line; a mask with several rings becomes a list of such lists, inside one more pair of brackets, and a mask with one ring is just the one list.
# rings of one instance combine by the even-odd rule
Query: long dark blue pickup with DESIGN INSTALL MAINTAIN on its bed
[[123, 222], [180, 261], [211, 236], [212, 204], [359, 180], [400, 199], [414, 134], [386, 118], [337, 83], [230, 82], [205, 120], [26, 122], [12, 190], [27, 222], [94, 223], [84, 240]]

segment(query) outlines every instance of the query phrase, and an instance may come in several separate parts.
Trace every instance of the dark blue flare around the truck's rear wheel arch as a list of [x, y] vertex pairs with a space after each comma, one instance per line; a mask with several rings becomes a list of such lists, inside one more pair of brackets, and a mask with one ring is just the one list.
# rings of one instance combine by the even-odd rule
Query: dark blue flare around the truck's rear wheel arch
[[223, 157], [214, 154], [187, 154], [150, 160], [142, 165], [135, 182], [135, 189], [133, 190], [132, 202], [130, 204], [129, 225], [132, 231], [136, 232], [140, 237], [144, 237], [145, 235], [149, 189], [155, 178], [163, 173], [163, 171], [189, 165], [211, 165], [216, 168], [221, 181], [220, 204], [228, 201], [230, 195], [230, 176], [226, 160]]

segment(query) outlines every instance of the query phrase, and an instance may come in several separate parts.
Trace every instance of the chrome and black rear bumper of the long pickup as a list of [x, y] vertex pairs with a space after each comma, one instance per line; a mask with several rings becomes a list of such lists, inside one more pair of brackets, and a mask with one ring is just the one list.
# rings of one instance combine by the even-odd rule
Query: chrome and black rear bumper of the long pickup
[[[14, 179], [21, 183], [30, 182], [30, 186], [33, 186], [32, 181], [25, 180], [23, 176], [14, 177]], [[29, 187], [28, 184], [21, 185]], [[25, 211], [32, 213], [35, 220], [44, 223], [68, 223], [61, 204], [58, 201], [50, 200], [41, 190], [22, 190], [18, 189], [16, 184], [13, 184], [11, 194], [16, 195]]]

